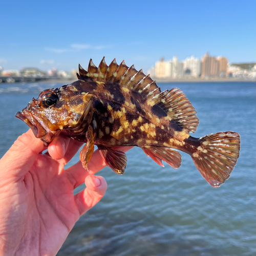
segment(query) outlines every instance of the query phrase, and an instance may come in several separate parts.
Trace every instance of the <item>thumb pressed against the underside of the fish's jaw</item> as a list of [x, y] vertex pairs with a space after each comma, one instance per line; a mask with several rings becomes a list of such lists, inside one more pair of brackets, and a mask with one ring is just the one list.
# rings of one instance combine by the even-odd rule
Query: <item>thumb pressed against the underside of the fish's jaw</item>
[[25, 175], [33, 165], [37, 155], [45, 148], [44, 143], [35, 138], [32, 131], [19, 136], [10, 150], [0, 160], [0, 172], [9, 175]]

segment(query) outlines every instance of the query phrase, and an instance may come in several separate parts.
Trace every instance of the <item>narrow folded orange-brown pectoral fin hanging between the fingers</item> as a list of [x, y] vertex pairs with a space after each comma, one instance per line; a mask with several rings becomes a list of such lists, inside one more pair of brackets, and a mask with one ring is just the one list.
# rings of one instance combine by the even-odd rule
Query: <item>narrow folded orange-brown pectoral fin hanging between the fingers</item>
[[87, 143], [83, 146], [80, 151], [79, 157], [82, 163], [82, 167], [88, 170], [88, 164], [93, 155], [94, 151], [94, 137], [95, 133], [91, 125], [89, 125], [88, 130], [86, 132]]

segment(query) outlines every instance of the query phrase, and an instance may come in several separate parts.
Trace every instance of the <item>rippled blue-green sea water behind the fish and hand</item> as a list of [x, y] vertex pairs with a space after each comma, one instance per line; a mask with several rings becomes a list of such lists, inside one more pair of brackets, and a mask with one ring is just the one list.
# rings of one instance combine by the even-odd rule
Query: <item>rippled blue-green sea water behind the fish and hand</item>
[[[42, 90], [61, 85], [0, 84], [0, 157], [28, 130], [15, 113]], [[105, 196], [80, 218], [57, 255], [255, 255], [255, 82], [158, 86], [179, 87], [194, 105], [200, 120], [194, 137], [241, 135], [230, 178], [213, 188], [187, 154], [181, 152], [179, 169], [163, 168], [133, 148], [124, 175], [108, 167], [99, 172], [108, 182]], [[78, 155], [70, 165], [77, 161]]]

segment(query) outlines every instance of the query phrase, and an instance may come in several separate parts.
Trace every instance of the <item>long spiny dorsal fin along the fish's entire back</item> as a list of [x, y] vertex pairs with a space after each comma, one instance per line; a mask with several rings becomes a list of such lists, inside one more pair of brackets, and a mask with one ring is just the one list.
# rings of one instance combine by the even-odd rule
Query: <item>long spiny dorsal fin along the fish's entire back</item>
[[137, 71], [134, 65], [127, 67], [124, 61], [120, 65], [114, 59], [110, 65], [106, 65], [104, 57], [97, 68], [90, 59], [88, 72], [79, 65], [78, 79], [93, 81], [112, 81], [123, 87], [146, 95], [158, 104], [172, 119], [188, 133], [195, 133], [199, 120], [192, 104], [185, 94], [178, 88], [161, 92], [156, 81], [150, 75], [145, 75], [142, 70]]

